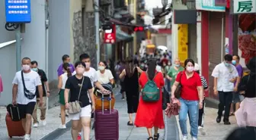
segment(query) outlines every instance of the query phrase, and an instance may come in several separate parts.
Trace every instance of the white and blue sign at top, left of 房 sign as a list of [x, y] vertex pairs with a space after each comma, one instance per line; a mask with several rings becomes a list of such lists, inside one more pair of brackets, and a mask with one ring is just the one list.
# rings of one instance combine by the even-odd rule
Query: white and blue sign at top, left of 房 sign
[[196, 0], [196, 9], [203, 11], [226, 11], [225, 6], [215, 5], [215, 0]]

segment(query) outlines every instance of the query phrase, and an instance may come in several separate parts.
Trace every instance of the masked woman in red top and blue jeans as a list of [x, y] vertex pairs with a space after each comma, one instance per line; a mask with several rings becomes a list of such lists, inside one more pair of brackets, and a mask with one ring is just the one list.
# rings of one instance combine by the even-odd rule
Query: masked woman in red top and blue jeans
[[203, 108], [203, 86], [200, 76], [194, 71], [195, 63], [192, 59], [184, 62], [186, 70], [178, 73], [177, 78], [171, 88], [171, 99], [174, 99], [174, 92], [181, 84], [181, 110], [179, 122], [182, 140], [187, 140], [187, 114], [190, 117], [190, 135], [193, 140], [197, 140], [199, 109]]

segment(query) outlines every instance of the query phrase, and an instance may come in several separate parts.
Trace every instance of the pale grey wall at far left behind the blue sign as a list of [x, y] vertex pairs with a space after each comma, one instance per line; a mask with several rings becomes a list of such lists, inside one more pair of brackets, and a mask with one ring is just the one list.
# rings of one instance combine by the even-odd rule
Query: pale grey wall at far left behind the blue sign
[[[39, 67], [46, 67], [45, 3], [42, 0], [31, 1], [31, 23], [26, 24], [26, 33], [22, 33], [21, 58], [28, 57], [38, 61]], [[5, 1], [0, 2], [0, 43], [14, 40], [14, 31], [5, 30]], [[16, 72], [15, 44], [0, 48], [0, 74], [4, 82], [4, 92], [0, 105], [11, 103], [12, 79]]]

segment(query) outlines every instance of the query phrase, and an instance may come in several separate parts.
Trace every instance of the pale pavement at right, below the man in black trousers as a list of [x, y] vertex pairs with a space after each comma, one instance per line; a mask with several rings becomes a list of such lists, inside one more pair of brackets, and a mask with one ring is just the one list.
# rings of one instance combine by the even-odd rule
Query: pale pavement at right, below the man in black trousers
[[[204, 130], [206, 135], [198, 135], [198, 140], [225, 140], [226, 136], [237, 127], [235, 116], [229, 117], [231, 125], [224, 125], [223, 122], [216, 123], [217, 109], [206, 107], [205, 117], [204, 117]], [[178, 120], [178, 117], [176, 117]], [[222, 118], [223, 119], [223, 118]], [[179, 127], [179, 125], [178, 125]], [[187, 119], [187, 132], [190, 133], [190, 125]], [[179, 127], [179, 134], [181, 134], [181, 129]], [[181, 138], [182, 135], [180, 135]], [[190, 135], [189, 139], [190, 140]]]

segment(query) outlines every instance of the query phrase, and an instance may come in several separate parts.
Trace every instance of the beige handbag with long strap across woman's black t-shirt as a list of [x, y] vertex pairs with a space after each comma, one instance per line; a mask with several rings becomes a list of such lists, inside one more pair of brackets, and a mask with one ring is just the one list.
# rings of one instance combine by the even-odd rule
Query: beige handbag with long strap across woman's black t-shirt
[[82, 84], [81, 84], [81, 87], [80, 87], [78, 100], [69, 102], [69, 114], [78, 114], [81, 111], [81, 105], [80, 104], [82, 104], [82, 103], [79, 101], [79, 98], [80, 98], [80, 94], [81, 94], [81, 91], [82, 91], [82, 86], [83, 86], [83, 83], [84, 83], [84, 79], [85, 79], [85, 77], [83, 77], [83, 79], [82, 79]]

